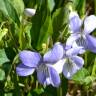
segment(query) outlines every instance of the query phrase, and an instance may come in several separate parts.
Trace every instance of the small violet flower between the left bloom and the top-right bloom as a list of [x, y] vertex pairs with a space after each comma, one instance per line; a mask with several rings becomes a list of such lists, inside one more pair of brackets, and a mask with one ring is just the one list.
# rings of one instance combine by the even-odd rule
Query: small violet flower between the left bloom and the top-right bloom
[[66, 48], [64, 47], [64, 65], [63, 74], [66, 78], [71, 79], [71, 77], [83, 67], [84, 60], [77, 56], [77, 54], [82, 50], [82, 48]]

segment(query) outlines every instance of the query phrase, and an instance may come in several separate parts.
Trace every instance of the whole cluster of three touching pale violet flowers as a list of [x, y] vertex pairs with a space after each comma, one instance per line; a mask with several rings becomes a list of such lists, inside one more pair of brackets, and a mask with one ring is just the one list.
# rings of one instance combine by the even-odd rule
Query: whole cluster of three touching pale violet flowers
[[83, 58], [78, 54], [83, 54], [86, 50], [96, 52], [96, 38], [90, 35], [96, 28], [96, 17], [91, 15], [81, 20], [76, 12], [71, 12], [69, 28], [71, 35], [67, 42], [55, 43], [43, 57], [37, 52], [21, 51], [19, 57], [22, 63], [16, 67], [17, 74], [28, 76], [36, 71], [41, 84], [51, 84], [54, 87], [60, 85], [60, 73], [71, 79], [84, 65]]

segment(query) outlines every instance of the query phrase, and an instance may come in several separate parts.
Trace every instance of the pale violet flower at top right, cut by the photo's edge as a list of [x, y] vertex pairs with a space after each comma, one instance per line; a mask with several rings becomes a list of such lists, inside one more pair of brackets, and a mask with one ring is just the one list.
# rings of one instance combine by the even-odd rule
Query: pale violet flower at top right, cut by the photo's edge
[[96, 28], [96, 16], [87, 16], [82, 21], [76, 12], [71, 12], [69, 15], [69, 22], [72, 34], [69, 36], [66, 45], [82, 46], [83, 50], [90, 50], [96, 53], [96, 38], [90, 35]]

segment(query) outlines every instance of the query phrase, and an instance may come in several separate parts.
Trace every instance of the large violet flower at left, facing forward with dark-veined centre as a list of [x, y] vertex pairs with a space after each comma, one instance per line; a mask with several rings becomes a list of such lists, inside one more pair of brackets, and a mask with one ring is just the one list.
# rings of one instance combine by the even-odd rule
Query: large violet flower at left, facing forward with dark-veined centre
[[63, 47], [56, 43], [43, 58], [37, 52], [22, 51], [19, 54], [22, 63], [16, 67], [19, 76], [28, 76], [36, 70], [38, 81], [43, 85], [60, 85], [59, 69], [54, 68], [58, 60], [63, 57]]

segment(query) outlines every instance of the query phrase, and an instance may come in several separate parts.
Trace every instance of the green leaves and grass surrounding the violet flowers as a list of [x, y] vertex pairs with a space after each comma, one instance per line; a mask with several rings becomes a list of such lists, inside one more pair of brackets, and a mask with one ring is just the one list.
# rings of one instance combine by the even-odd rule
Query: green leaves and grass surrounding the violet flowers
[[[36, 14], [27, 17], [24, 8], [35, 8]], [[71, 9], [81, 18], [86, 14], [96, 15], [96, 0], [0, 0], [0, 96], [65, 96], [70, 93], [70, 80], [62, 74], [59, 88], [43, 86], [38, 83], [36, 73], [18, 76], [16, 66], [22, 50], [38, 51], [43, 55], [55, 42], [66, 42]], [[84, 68], [72, 77], [73, 85], [82, 87], [76, 87], [81, 96], [83, 93], [95, 96], [96, 54], [87, 51], [81, 56]]]

